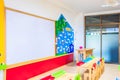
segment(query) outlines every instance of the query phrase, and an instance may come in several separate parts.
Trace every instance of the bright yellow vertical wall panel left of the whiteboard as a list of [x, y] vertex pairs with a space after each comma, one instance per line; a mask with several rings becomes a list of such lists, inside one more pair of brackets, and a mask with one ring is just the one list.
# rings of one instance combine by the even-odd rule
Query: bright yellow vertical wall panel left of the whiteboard
[[5, 8], [0, 0], [0, 63], [5, 63]]

